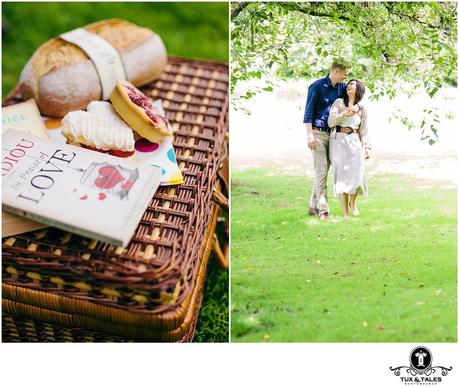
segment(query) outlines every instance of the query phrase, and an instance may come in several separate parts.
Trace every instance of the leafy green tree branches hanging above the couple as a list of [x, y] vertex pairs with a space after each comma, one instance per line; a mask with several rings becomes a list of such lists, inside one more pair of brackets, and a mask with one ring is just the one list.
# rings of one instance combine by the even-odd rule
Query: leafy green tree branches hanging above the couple
[[[268, 74], [326, 75], [336, 56], [352, 62], [351, 76], [365, 81], [372, 99], [420, 90], [434, 97], [445, 85], [457, 86], [456, 2], [240, 2], [231, 16], [233, 91]], [[416, 123], [401, 112], [396, 118], [433, 144], [439, 113], [424, 113]]]

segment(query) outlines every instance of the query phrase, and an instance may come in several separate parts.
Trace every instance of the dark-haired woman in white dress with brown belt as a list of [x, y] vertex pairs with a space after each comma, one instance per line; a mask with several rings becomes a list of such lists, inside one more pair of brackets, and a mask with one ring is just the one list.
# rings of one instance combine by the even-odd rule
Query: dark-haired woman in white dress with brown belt
[[346, 94], [338, 98], [330, 109], [328, 126], [330, 135], [330, 160], [333, 165], [335, 195], [343, 210], [343, 217], [358, 216], [355, 205], [357, 194], [367, 194], [363, 159], [370, 157], [367, 112], [361, 105], [365, 85], [356, 79], [349, 81]]

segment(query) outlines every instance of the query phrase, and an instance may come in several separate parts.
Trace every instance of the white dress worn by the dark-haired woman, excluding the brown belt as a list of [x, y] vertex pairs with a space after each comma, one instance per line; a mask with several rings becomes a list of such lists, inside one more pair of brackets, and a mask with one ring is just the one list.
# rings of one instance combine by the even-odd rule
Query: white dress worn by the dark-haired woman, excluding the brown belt
[[[359, 129], [361, 117], [354, 114], [340, 119], [339, 125]], [[341, 193], [367, 195], [367, 183], [363, 166], [364, 151], [358, 133], [330, 134], [330, 160], [333, 165], [335, 195]]]

